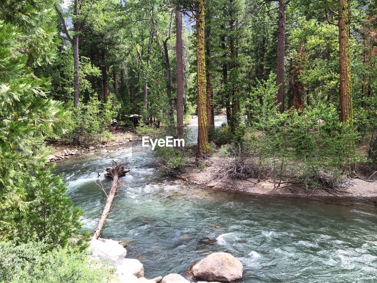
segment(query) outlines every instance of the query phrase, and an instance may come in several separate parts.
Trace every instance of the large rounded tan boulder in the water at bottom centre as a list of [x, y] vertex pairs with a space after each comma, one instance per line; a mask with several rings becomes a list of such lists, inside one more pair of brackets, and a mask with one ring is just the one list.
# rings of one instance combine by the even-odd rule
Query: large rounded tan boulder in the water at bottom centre
[[197, 261], [190, 268], [194, 280], [231, 282], [242, 278], [241, 261], [226, 252], [215, 252]]

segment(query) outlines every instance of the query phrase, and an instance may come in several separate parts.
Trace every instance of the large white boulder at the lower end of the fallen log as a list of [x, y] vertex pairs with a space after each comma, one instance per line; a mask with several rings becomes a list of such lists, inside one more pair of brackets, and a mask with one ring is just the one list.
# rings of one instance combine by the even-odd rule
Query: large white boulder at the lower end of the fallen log
[[102, 261], [108, 260], [113, 264], [121, 264], [127, 254], [126, 249], [117, 241], [106, 240], [106, 242], [93, 238], [89, 243], [91, 258], [99, 258]]

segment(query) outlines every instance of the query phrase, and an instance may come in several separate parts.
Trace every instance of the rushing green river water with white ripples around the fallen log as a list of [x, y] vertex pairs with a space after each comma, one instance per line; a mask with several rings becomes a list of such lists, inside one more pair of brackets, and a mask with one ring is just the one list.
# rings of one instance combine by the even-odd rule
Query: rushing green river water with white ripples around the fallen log
[[196, 260], [221, 251], [242, 261], [244, 283], [377, 281], [373, 203], [213, 192], [162, 175], [149, 156], [131, 148], [58, 162], [68, 195], [85, 211], [84, 229], [97, 225], [104, 193], [96, 182], [110, 184], [102, 169], [112, 158], [129, 161], [131, 171], [101, 237], [127, 243], [127, 257], [144, 264], [146, 277], [184, 274]]

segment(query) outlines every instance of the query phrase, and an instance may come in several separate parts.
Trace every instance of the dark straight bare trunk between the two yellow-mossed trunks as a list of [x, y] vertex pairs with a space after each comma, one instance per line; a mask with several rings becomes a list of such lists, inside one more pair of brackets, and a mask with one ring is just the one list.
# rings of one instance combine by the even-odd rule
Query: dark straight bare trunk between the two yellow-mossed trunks
[[280, 85], [277, 91], [277, 103], [280, 103], [279, 111], [284, 111], [284, 48], [285, 48], [285, 0], [279, 1], [279, 20], [277, 35], [277, 66], [276, 66], [276, 85]]

